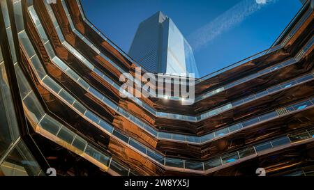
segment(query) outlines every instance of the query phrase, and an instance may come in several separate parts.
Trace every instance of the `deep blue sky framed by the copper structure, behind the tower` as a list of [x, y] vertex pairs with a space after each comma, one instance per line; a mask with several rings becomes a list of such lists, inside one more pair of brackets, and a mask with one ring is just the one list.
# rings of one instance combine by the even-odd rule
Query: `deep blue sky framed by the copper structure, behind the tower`
[[[262, 1], [262, 0], [257, 0]], [[158, 10], [193, 47], [200, 76], [268, 49], [301, 8], [299, 0], [82, 0], [89, 20], [124, 52], [138, 24]]]

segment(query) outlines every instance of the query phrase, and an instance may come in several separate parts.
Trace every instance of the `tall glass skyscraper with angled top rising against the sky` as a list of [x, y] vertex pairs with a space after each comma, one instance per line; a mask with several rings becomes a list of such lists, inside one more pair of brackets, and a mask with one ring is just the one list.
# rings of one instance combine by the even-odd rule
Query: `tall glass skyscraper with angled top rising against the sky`
[[138, 26], [129, 55], [149, 72], [186, 76], [198, 70], [193, 50], [170, 17], [160, 11]]

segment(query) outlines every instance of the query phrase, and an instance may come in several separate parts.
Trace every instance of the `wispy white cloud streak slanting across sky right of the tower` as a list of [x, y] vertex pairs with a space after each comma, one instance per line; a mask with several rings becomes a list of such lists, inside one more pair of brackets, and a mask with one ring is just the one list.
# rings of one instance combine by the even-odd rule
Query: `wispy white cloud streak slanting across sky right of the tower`
[[243, 0], [190, 34], [188, 42], [193, 47], [193, 50], [197, 51], [197, 49], [205, 47], [221, 33], [231, 29], [244, 21], [246, 17], [275, 1], [277, 0]]

